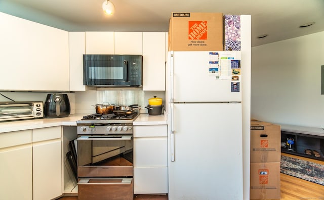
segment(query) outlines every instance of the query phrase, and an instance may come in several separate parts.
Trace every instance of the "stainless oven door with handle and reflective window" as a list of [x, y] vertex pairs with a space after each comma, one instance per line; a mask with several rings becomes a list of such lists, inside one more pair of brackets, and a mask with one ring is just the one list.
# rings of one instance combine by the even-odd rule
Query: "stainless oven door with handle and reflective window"
[[79, 178], [133, 176], [133, 135], [80, 135], [77, 155]]

